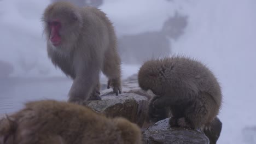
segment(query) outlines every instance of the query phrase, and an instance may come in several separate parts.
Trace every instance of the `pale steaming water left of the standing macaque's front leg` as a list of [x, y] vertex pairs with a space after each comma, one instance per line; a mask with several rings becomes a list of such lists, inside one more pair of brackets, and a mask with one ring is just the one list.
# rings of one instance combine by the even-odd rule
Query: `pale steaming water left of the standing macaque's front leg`
[[[4, 82], [3, 82], [4, 81]], [[11, 113], [24, 103], [39, 99], [67, 100], [72, 81], [65, 78], [8, 79], [0, 84], [0, 113]]]

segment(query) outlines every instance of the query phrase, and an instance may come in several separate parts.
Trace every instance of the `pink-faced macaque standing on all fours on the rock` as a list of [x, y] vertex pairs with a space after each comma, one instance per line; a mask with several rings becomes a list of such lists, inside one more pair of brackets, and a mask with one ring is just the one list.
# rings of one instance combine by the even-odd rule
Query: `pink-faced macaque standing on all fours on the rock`
[[42, 21], [51, 62], [73, 79], [69, 101], [101, 99], [101, 70], [108, 77], [108, 88], [116, 95], [121, 93], [117, 38], [105, 13], [94, 7], [55, 2], [45, 9]]

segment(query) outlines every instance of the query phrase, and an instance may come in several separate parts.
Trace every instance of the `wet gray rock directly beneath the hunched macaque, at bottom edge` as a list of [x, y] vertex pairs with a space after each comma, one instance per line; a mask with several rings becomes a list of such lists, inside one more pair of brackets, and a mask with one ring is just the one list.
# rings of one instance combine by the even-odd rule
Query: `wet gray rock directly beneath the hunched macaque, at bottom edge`
[[159, 143], [209, 143], [205, 134], [194, 129], [170, 128], [169, 118], [159, 121], [144, 131], [144, 142], [149, 144]]

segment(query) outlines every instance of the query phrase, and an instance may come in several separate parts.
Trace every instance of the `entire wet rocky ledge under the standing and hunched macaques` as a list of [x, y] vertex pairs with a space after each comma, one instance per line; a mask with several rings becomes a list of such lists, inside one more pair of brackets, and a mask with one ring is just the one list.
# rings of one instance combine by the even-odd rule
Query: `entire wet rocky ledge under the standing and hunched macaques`
[[[214, 119], [211, 129], [205, 129], [203, 132], [195, 129], [170, 128], [169, 118], [162, 118], [156, 123], [150, 123], [152, 119], [148, 118], [147, 109], [148, 100], [153, 96], [152, 92], [144, 92], [138, 87], [137, 75], [133, 75], [123, 81], [122, 94], [116, 96], [112, 89], [104, 89], [101, 91], [102, 100], [84, 101], [84, 105], [108, 117], [125, 117], [138, 124], [143, 131], [144, 143], [214, 144], [217, 142], [222, 129], [222, 122], [218, 118]], [[1, 117], [3, 115], [0, 115]]]

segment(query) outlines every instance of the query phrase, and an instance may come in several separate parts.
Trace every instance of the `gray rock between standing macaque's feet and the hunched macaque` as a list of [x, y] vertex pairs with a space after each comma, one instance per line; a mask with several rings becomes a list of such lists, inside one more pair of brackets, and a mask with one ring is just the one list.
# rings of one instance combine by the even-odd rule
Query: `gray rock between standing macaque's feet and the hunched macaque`
[[108, 117], [125, 117], [142, 127], [146, 121], [148, 99], [134, 93], [104, 95], [102, 100], [84, 101], [84, 105]]

